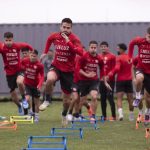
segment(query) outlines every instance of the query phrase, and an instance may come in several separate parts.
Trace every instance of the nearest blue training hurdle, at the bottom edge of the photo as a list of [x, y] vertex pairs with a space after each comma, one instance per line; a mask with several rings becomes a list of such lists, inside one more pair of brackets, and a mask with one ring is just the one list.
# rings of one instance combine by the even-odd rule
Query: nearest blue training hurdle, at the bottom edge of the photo
[[[41, 142], [42, 140], [45, 141]], [[46, 147], [47, 145], [49, 147]], [[64, 136], [30, 136], [28, 138], [28, 148], [22, 150], [67, 150], [67, 140]]]

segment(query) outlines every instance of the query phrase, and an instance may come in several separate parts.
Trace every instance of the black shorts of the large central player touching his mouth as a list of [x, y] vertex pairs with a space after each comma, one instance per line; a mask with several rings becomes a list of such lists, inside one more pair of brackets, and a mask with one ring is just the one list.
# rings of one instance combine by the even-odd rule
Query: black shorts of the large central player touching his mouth
[[70, 94], [72, 92], [73, 72], [63, 72], [51, 65], [50, 71], [52, 70], [56, 72], [58, 80], [60, 80], [62, 91], [66, 94]]

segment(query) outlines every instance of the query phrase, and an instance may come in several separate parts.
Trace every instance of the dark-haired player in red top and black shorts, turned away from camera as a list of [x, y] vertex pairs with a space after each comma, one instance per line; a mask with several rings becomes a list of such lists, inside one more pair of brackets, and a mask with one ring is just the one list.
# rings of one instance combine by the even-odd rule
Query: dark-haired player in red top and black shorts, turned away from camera
[[129, 120], [134, 120], [133, 110], [134, 107], [132, 106], [133, 102], [133, 86], [132, 86], [132, 64], [128, 62], [129, 57], [125, 53], [127, 50], [127, 46], [124, 43], [118, 44], [118, 57], [116, 66], [113, 70], [108, 73], [109, 79], [111, 79], [114, 74], [117, 73], [116, 79], [116, 93], [117, 93], [117, 107], [118, 107], [118, 114], [119, 120], [123, 120], [123, 107], [122, 107], [122, 99], [124, 93], [127, 95], [127, 100], [129, 103]]

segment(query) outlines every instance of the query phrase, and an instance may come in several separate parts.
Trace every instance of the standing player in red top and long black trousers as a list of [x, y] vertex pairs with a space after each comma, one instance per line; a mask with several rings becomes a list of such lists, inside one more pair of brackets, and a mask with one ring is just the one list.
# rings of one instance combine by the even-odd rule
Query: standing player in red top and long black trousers
[[[103, 60], [103, 63], [105, 64], [105, 73], [106, 75], [114, 68], [116, 64], [116, 56], [112, 54], [109, 51], [109, 45], [106, 41], [103, 41], [100, 43], [100, 57]], [[108, 90], [104, 84], [104, 72], [102, 71], [104, 69], [101, 69], [100, 71], [100, 86], [99, 86], [99, 91], [100, 91], [100, 99], [101, 99], [101, 109], [102, 109], [102, 115], [105, 120], [107, 120], [107, 114], [106, 114], [106, 107], [107, 103], [106, 100], [108, 99], [110, 108], [111, 108], [111, 113], [112, 117], [109, 118], [109, 120], [114, 121], [116, 120], [116, 108], [115, 108], [115, 102], [114, 102], [114, 86], [115, 86], [115, 75], [112, 76], [109, 79], [108, 84], [111, 87], [111, 91]]]

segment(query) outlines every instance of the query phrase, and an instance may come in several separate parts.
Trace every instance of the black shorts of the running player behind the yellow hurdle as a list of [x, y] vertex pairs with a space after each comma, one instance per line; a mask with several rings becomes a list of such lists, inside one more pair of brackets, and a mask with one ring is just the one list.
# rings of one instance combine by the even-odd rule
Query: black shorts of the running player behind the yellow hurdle
[[29, 95], [31, 97], [39, 98], [40, 97], [40, 91], [35, 87], [25, 85], [25, 95]]

